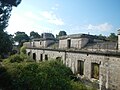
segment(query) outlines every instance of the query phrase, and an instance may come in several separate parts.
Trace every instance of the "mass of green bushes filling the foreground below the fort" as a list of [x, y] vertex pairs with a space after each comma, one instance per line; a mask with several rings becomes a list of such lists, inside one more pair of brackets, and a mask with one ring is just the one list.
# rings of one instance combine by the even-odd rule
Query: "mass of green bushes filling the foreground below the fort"
[[62, 62], [26, 62], [21, 57], [21, 54], [16, 54], [3, 61], [0, 66], [0, 89], [87, 90], [85, 85], [71, 80], [73, 73]]

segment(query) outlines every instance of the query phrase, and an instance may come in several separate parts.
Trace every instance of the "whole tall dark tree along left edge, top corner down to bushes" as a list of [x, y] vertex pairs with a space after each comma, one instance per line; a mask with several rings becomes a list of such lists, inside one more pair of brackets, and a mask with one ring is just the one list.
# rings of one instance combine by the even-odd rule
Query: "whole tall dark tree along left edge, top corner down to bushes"
[[0, 0], [0, 56], [4, 57], [12, 49], [10, 36], [4, 31], [8, 26], [12, 6], [18, 6], [21, 0]]

